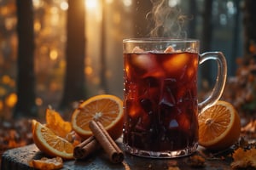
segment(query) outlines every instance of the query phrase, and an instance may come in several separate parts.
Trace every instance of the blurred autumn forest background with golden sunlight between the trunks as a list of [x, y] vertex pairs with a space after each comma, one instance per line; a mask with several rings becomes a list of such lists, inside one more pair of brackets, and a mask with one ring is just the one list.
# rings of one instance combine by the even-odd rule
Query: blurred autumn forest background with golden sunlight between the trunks
[[[42, 116], [48, 105], [68, 111], [96, 94], [123, 98], [122, 40], [149, 37], [154, 21], [148, 13], [158, 2], [0, 0], [0, 120]], [[165, 0], [166, 8], [186, 16], [182, 37], [201, 40], [201, 53], [224, 53], [224, 98], [237, 107], [250, 101], [250, 111], [256, 108], [255, 2]], [[214, 83], [214, 66], [201, 66], [201, 91]], [[244, 97], [235, 101], [234, 92]]]

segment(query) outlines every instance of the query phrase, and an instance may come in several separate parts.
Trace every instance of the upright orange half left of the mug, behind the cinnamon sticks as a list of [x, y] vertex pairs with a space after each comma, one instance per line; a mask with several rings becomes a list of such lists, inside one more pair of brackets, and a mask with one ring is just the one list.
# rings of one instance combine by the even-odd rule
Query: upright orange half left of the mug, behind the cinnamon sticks
[[84, 139], [92, 133], [89, 122], [99, 121], [113, 139], [118, 139], [123, 131], [123, 101], [114, 95], [102, 94], [91, 97], [73, 111], [73, 130]]

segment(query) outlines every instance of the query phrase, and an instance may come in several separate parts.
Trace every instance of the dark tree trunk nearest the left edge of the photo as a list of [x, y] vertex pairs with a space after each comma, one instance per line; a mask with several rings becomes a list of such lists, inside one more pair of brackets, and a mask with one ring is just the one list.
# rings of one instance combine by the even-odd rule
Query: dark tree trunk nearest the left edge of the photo
[[38, 116], [35, 105], [34, 34], [32, 0], [16, 0], [17, 7], [17, 96], [14, 117]]

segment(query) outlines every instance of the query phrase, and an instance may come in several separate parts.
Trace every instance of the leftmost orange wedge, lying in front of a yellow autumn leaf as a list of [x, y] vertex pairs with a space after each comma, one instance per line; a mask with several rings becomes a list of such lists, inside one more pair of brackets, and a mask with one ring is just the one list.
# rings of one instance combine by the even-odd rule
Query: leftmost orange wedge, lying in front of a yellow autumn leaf
[[38, 149], [49, 156], [60, 156], [63, 159], [73, 159], [73, 144], [55, 135], [40, 122], [32, 121], [32, 137]]

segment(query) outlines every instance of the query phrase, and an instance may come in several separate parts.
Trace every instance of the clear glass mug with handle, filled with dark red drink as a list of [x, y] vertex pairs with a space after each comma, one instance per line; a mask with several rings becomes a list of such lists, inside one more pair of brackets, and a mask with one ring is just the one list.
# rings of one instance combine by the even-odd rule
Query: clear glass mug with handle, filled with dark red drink
[[[198, 146], [198, 114], [221, 96], [227, 65], [221, 52], [199, 54], [199, 41], [123, 40], [125, 151], [137, 156], [188, 156]], [[198, 65], [217, 61], [212, 94], [198, 103]]]

